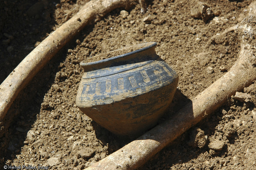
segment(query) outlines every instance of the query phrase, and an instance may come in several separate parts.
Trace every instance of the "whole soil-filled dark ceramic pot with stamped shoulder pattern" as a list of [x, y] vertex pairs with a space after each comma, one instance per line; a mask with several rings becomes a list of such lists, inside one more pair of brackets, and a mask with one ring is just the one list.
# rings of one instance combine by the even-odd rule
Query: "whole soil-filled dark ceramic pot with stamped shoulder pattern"
[[133, 45], [96, 55], [96, 62], [81, 62], [85, 73], [76, 96], [78, 108], [118, 135], [155, 126], [178, 84], [178, 74], [156, 54], [156, 45]]

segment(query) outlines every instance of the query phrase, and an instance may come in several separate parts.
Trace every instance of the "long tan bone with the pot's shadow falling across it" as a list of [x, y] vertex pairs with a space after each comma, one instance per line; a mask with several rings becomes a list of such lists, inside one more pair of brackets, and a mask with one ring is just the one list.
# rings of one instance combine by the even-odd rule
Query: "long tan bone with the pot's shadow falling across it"
[[[224, 104], [228, 97], [256, 80], [256, 47], [254, 46], [256, 43], [253, 41], [256, 37], [254, 34], [256, 28], [250, 24], [253, 22], [256, 22], [256, 17], [249, 16], [242, 24], [231, 28], [241, 36], [241, 50], [237, 62], [230, 71], [196, 96], [172, 119], [156, 126], [85, 170], [138, 168], [167, 144], [196, 125], [205, 115], [209, 115]], [[228, 31], [225, 32], [227, 33]]]

